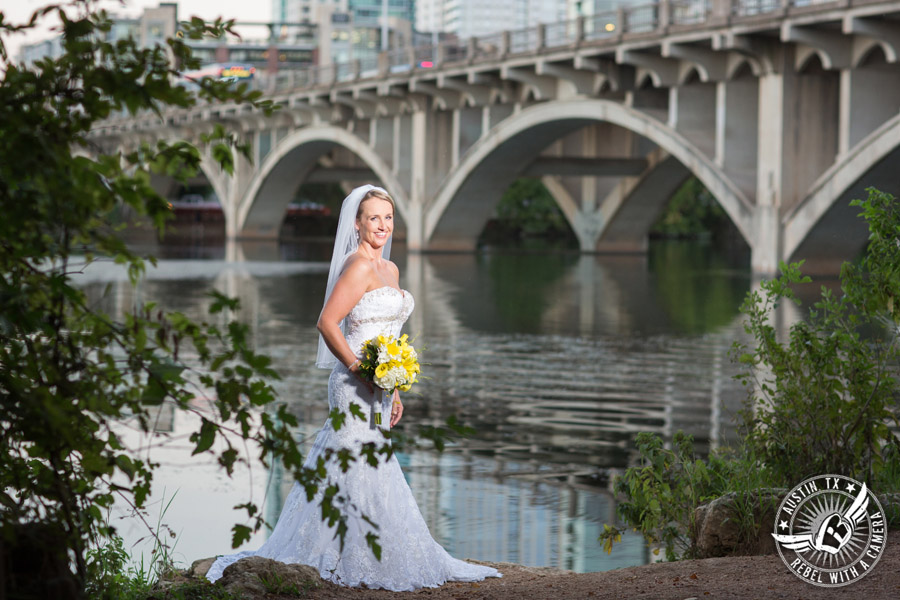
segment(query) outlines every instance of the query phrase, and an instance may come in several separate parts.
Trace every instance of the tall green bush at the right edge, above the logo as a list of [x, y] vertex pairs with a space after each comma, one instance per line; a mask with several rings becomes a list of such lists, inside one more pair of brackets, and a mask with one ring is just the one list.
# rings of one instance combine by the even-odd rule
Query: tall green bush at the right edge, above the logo
[[898, 418], [894, 367], [900, 310], [900, 210], [890, 194], [869, 189], [854, 200], [868, 221], [869, 247], [858, 264], [844, 263], [842, 294], [822, 287], [806, 319], [782, 341], [771, 313], [784, 301], [799, 304], [792, 286], [809, 283], [802, 263], [748, 294], [741, 311], [755, 347], [735, 345], [748, 367], [747, 442], [785, 481], [840, 473], [871, 481], [897, 445], [889, 424]]

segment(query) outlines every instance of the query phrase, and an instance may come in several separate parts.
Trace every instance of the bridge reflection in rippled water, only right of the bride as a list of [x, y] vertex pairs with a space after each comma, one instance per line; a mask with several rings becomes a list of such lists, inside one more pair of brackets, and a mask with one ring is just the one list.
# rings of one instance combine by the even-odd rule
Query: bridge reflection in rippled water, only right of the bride
[[[503, 271], [514, 268], [516, 258], [483, 259], [492, 260]], [[414, 315], [430, 324], [420, 331], [428, 332], [429, 356], [442, 359], [431, 370], [446, 382], [429, 391], [440, 401], [413, 404], [417, 419], [420, 411], [434, 422], [462, 414], [479, 429], [470, 448], [538, 458], [563, 470], [577, 463], [573, 472], [583, 470], [579, 465], [626, 464], [638, 431], [670, 438], [683, 430], [711, 446], [734, 439], [745, 394], [732, 379], [736, 367], [728, 351], [740, 330], [736, 307], [749, 281], [736, 278], [719, 292], [728, 308], [710, 327], [714, 332], [673, 336], [666, 290], [634, 264], [638, 259], [569, 257], [569, 265], [559, 264], [564, 258], [547, 260], [555, 279], [542, 278], [541, 269], [534, 269], [539, 261], [528, 257], [537, 279], [521, 289], [488, 289], [491, 265], [472, 264], [481, 259], [408, 257], [408, 277], [421, 269], [425, 275], [418, 278], [429, 282], [417, 295], [424, 292], [427, 301]], [[721, 277], [728, 278], [709, 276], [696, 285], [715, 286]], [[674, 284], [691, 296], [690, 278]], [[525, 322], [503, 322], [514, 305]], [[707, 305], [697, 309], [711, 312]], [[437, 319], [448, 331], [436, 327]], [[418, 323], [409, 330], [415, 333]], [[499, 333], [505, 330], [522, 333]]]

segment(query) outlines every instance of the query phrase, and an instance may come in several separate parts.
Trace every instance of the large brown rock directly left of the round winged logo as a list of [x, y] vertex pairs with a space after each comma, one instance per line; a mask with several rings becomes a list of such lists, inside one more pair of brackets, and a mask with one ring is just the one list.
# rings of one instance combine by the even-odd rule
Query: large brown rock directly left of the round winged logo
[[701, 558], [774, 554], [775, 512], [784, 489], [729, 492], [694, 510]]

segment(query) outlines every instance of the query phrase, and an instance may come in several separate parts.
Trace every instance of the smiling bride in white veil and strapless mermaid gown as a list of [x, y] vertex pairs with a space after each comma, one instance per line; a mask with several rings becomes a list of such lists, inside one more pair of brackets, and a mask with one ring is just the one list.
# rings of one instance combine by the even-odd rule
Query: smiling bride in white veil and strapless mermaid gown
[[[330, 420], [325, 423], [306, 467], [315, 467], [329, 449], [348, 448], [358, 456], [362, 444], [384, 444], [379, 424], [393, 427], [403, 416], [399, 392], [382, 398], [381, 391], [359, 375], [357, 356], [367, 339], [379, 334], [399, 336], [413, 310], [413, 298], [400, 289], [400, 273], [388, 260], [393, 229], [394, 201], [383, 189], [364, 185], [344, 199], [318, 322], [316, 364], [332, 369], [328, 407], [343, 411], [347, 418], [337, 430]], [[351, 403], [363, 408], [365, 420], [350, 415]], [[393, 591], [501, 576], [496, 569], [451, 557], [434, 541], [395, 456], [380, 458], [377, 467], [361, 458], [346, 471], [334, 460], [327, 464], [325, 481], [311, 501], [295, 483], [266, 543], [256, 552], [219, 557], [207, 578], [215, 581], [225, 567], [247, 556], [310, 565], [324, 579], [340, 585]], [[343, 549], [335, 527], [322, 520], [319, 508], [322, 490], [332, 484], [349, 500]], [[378, 536], [381, 560], [367, 543], [371, 533]]]

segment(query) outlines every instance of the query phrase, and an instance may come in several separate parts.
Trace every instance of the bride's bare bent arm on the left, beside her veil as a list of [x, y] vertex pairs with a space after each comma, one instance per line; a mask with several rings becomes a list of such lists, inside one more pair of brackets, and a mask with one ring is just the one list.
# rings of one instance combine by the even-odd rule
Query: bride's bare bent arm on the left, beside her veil
[[347, 343], [339, 324], [369, 287], [371, 275], [369, 270], [364, 261], [355, 260], [348, 264], [334, 284], [331, 297], [322, 307], [322, 314], [316, 323], [316, 328], [322, 334], [322, 339], [325, 340], [325, 345], [331, 353], [354, 373], [359, 370], [357, 356]]

